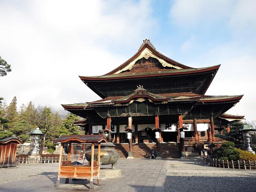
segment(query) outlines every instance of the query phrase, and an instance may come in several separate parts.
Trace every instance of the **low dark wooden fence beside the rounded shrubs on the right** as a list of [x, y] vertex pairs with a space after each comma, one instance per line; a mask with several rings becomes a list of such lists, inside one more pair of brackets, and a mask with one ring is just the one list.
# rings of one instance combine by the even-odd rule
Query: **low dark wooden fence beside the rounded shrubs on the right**
[[204, 162], [212, 167], [222, 167], [228, 169], [256, 169], [256, 161], [228, 161], [212, 158], [203, 158]]

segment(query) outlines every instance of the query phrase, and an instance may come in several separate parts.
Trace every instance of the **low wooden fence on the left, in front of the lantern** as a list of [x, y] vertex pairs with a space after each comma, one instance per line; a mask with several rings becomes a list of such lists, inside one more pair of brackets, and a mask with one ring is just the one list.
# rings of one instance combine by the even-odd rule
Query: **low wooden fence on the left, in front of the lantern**
[[[71, 161], [78, 161], [80, 158], [79, 155], [71, 155], [70, 159]], [[68, 156], [63, 155], [62, 156], [62, 161], [67, 161]], [[40, 157], [40, 158], [16, 158], [16, 163], [17, 164], [42, 164], [42, 163], [58, 163], [59, 162], [59, 157]]]

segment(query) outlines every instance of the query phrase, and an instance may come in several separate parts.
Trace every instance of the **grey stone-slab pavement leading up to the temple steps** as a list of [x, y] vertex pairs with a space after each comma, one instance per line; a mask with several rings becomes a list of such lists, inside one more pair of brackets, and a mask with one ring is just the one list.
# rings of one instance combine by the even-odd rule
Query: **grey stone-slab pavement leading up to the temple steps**
[[[122, 170], [122, 176], [100, 180], [101, 186], [97, 186], [97, 182], [94, 180], [95, 189], [93, 191], [164, 192], [168, 162], [169, 160], [166, 159], [119, 159], [116, 168]], [[110, 168], [111, 165], [104, 167]], [[2, 184], [0, 192], [89, 191], [88, 180], [72, 181], [70, 179], [71, 184], [65, 184], [65, 179], [61, 179], [59, 186], [54, 187], [56, 176], [57, 173], [49, 173], [43, 176], [31, 177], [27, 180]]]

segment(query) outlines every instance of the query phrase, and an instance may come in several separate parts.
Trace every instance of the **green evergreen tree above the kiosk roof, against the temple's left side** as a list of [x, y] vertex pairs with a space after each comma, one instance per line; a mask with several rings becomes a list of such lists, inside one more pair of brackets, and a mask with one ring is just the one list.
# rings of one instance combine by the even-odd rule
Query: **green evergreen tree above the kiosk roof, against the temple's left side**
[[73, 125], [74, 121], [78, 121], [79, 117], [77, 115], [73, 115], [69, 113], [65, 120], [63, 121], [62, 127], [59, 130], [59, 136], [60, 135], [78, 135], [79, 130], [78, 127]]

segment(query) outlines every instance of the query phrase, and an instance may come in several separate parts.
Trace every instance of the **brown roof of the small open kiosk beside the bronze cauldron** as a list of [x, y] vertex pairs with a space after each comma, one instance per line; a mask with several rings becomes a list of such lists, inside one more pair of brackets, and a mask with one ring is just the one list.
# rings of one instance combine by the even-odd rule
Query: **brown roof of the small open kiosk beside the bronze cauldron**
[[72, 142], [72, 143], [99, 143], [108, 142], [102, 135], [62, 135], [53, 142]]

